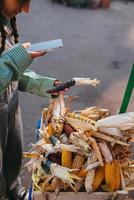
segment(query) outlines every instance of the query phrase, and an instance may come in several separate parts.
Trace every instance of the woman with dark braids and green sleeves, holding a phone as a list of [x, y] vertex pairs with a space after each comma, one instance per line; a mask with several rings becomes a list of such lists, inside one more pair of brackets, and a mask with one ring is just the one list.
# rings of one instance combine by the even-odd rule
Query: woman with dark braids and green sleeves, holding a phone
[[45, 91], [60, 83], [27, 69], [45, 54], [28, 52], [29, 43], [18, 40], [16, 15], [29, 7], [30, 0], [0, 0], [0, 200], [22, 200], [27, 192], [18, 181], [23, 138], [18, 90], [51, 98], [57, 94]]

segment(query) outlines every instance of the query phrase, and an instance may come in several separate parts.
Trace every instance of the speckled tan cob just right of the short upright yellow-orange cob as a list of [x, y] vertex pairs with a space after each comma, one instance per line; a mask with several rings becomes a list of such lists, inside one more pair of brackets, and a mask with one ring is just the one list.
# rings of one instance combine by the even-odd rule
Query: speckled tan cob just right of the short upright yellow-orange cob
[[[77, 154], [74, 159], [73, 159], [73, 163], [72, 163], [72, 169], [81, 169], [83, 164], [84, 164], [84, 156]], [[76, 172], [77, 174], [78, 172]]]

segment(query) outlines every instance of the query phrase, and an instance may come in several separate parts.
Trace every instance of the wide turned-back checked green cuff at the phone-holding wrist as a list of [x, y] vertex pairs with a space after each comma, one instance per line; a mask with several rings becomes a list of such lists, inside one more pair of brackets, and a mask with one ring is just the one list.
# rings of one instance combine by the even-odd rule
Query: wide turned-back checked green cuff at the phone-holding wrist
[[[10, 60], [10, 68], [13, 70], [14, 75], [19, 77], [21, 73], [32, 63], [32, 57], [22, 44], [18, 43], [12, 48], [3, 52], [2, 57], [5, 60]], [[8, 64], [8, 63], [7, 63]]]

